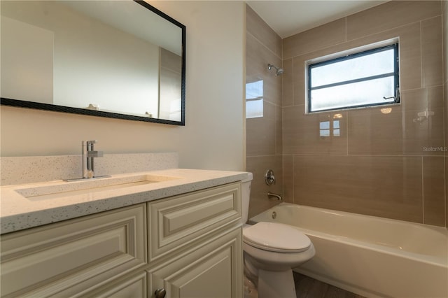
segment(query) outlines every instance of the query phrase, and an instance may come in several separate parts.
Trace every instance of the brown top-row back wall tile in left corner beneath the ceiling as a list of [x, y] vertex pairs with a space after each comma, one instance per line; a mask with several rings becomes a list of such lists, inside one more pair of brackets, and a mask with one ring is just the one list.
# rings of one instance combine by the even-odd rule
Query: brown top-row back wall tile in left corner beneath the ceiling
[[345, 19], [309, 29], [283, 39], [283, 59], [303, 55], [345, 41]]

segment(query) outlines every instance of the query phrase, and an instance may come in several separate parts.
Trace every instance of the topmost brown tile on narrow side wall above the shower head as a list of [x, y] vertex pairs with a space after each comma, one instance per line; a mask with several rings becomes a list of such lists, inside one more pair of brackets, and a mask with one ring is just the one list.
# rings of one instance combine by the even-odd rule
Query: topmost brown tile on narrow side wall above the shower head
[[248, 5], [246, 5], [246, 31], [281, 58], [281, 37]]

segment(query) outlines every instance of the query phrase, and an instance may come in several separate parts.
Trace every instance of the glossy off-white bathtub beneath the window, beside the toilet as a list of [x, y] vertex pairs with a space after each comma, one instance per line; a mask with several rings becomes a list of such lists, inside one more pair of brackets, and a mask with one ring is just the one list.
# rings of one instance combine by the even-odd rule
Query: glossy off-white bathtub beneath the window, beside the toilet
[[316, 255], [298, 273], [365, 297], [448, 297], [444, 227], [287, 203], [250, 220], [260, 221], [309, 236]]

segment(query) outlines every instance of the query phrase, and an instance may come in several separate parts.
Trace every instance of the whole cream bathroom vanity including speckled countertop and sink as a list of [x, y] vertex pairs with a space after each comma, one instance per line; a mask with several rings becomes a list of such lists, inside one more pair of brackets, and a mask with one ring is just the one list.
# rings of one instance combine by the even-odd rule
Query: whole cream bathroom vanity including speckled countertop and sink
[[246, 176], [171, 169], [3, 186], [1, 297], [242, 297]]

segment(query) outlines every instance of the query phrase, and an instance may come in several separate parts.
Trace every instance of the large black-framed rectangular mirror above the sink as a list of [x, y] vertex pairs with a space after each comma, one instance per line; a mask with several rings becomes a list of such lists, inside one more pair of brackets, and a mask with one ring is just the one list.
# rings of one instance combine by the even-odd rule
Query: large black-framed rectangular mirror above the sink
[[1, 4], [1, 104], [185, 125], [186, 27], [145, 1]]

